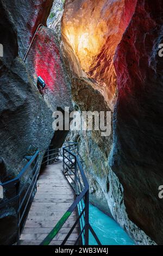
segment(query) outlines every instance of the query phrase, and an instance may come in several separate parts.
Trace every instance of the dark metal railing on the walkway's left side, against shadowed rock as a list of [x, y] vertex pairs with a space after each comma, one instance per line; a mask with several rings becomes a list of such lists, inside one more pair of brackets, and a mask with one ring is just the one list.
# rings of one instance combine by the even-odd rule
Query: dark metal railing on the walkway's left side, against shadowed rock
[[6, 206], [11, 206], [15, 209], [17, 215], [17, 237], [18, 241], [26, 223], [30, 205], [34, 197], [36, 181], [39, 175], [38, 166], [39, 151], [33, 156], [26, 156], [28, 161], [26, 166], [21, 170], [16, 178], [7, 182], [1, 183], [3, 187], [3, 196], [0, 202], [0, 210]]

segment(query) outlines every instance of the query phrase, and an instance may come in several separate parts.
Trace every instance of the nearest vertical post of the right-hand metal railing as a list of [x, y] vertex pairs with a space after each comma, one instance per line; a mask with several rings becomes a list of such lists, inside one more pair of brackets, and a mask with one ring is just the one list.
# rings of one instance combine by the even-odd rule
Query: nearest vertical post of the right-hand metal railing
[[89, 245], [89, 189], [85, 194], [85, 245]]

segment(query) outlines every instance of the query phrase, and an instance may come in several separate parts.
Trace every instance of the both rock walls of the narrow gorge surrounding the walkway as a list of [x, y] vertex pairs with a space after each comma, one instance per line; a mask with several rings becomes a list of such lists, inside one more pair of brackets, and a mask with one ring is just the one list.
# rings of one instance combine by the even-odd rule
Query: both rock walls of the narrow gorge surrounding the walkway
[[[136, 245], [162, 245], [163, 2], [0, 0], [0, 14], [0, 184], [37, 150], [40, 169], [49, 145], [78, 143], [90, 203]], [[109, 135], [54, 131], [54, 112], [65, 120], [67, 108], [111, 113]], [[16, 242], [15, 205], [1, 208], [10, 193], [0, 199], [0, 245]]]

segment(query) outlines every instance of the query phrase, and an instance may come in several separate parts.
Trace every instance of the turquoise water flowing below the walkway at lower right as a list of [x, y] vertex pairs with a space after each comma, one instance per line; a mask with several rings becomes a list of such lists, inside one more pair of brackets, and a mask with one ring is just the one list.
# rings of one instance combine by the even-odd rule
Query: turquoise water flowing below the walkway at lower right
[[[90, 204], [90, 224], [102, 245], [135, 245], [128, 234], [112, 218]], [[90, 235], [90, 245], [96, 245]]]

